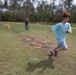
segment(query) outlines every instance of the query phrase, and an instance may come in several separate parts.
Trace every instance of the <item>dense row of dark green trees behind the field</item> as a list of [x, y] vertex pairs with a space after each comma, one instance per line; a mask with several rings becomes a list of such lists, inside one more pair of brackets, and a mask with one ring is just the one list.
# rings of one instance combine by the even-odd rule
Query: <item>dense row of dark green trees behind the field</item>
[[[64, 11], [71, 13], [70, 22], [76, 22], [76, 5], [73, 0], [0, 0], [0, 21], [59, 22]], [[2, 11], [6, 8], [7, 11]]]

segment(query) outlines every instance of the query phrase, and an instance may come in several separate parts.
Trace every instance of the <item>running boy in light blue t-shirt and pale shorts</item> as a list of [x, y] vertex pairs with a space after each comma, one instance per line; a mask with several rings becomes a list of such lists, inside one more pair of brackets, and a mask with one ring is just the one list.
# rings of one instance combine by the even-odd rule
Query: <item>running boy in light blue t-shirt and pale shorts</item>
[[49, 31], [47, 37], [49, 37], [52, 31], [55, 31], [58, 42], [58, 46], [54, 50], [50, 51], [50, 56], [57, 56], [59, 51], [67, 50], [66, 36], [68, 33], [72, 32], [71, 25], [68, 23], [69, 19], [70, 13], [68, 11], [64, 12], [62, 14], [62, 22], [53, 26]]

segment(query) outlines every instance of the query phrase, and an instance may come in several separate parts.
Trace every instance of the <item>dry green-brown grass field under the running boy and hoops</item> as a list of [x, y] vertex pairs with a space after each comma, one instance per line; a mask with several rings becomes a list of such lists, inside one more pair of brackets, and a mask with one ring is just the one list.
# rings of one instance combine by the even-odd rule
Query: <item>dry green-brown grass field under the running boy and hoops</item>
[[[4, 29], [3, 24], [12, 28]], [[46, 38], [50, 28], [51, 25], [30, 24], [30, 30], [25, 31], [23, 23], [0, 22], [0, 75], [76, 75], [76, 29], [67, 37], [68, 50], [59, 52], [58, 57], [48, 57], [50, 50], [57, 46], [54, 32]], [[27, 48], [18, 40], [23, 35], [44, 38], [53, 47]]]

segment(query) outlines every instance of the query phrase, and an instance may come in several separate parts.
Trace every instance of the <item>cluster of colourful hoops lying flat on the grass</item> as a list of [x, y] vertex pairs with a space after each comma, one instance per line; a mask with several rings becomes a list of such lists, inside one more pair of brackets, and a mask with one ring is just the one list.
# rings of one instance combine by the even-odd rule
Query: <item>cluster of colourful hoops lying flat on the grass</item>
[[42, 38], [36, 38], [34, 36], [26, 36], [26, 37], [19, 37], [18, 40], [26, 43], [27, 48], [50, 48], [48, 45], [52, 45], [51, 43], [47, 42]]

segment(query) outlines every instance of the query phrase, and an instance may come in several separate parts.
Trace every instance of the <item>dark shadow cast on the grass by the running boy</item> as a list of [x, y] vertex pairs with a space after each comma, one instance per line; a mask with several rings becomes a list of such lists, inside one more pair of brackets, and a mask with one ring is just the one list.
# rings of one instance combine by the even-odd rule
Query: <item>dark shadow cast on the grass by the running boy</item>
[[37, 63], [28, 62], [27, 67], [26, 67], [26, 71], [33, 72], [36, 69], [40, 69], [41, 70], [40, 73], [42, 73], [47, 68], [54, 69], [53, 59], [50, 56], [48, 56], [48, 59], [42, 60], [42, 61], [37, 62]]

